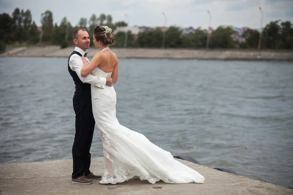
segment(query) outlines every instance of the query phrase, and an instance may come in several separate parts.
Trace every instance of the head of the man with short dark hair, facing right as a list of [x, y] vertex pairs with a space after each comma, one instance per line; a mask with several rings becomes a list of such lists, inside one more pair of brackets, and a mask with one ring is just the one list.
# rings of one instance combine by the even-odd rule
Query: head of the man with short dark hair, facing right
[[86, 50], [89, 48], [89, 36], [84, 28], [76, 29], [72, 33], [72, 38], [75, 46], [81, 48], [82, 50]]

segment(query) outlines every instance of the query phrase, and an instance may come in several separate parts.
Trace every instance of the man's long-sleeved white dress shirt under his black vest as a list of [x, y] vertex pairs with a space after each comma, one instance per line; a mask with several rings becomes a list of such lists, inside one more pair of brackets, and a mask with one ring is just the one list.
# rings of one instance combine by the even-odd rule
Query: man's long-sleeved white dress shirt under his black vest
[[[75, 47], [74, 51], [79, 52], [83, 56], [85, 54], [85, 51], [82, 50], [79, 47]], [[87, 57], [85, 57], [85, 59], [89, 62]], [[97, 87], [100, 87], [100, 88], [105, 88], [106, 78], [95, 77], [95, 76], [90, 75], [90, 74], [88, 76], [86, 76], [86, 77], [82, 77], [81, 76], [81, 71], [82, 71], [83, 66], [84, 66], [84, 62], [83, 62], [82, 58], [79, 55], [73, 54], [70, 57], [70, 59], [69, 59], [69, 67], [70, 67], [71, 70], [76, 72], [77, 76], [81, 79], [81, 81], [83, 83], [89, 83], [89, 84], [93, 84], [93, 85], [95, 85]]]

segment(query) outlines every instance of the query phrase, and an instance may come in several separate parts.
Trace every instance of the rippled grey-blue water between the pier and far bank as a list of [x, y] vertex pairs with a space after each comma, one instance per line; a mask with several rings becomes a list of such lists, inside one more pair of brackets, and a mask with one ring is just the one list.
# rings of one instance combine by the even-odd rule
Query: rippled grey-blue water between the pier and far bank
[[[120, 59], [117, 117], [173, 155], [293, 187], [293, 63]], [[65, 58], [0, 59], [0, 163], [72, 158]], [[95, 132], [93, 157], [102, 156]]]

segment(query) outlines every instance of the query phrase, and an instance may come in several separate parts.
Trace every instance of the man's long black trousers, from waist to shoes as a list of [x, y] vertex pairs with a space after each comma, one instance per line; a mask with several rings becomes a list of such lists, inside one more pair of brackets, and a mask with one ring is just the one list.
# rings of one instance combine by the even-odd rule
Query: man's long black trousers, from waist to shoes
[[73, 97], [73, 109], [75, 112], [75, 137], [72, 146], [72, 178], [77, 178], [84, 174], [90, 174], [91, 155], [89, 150], [95, 129], [95, 119], [90, 97]]

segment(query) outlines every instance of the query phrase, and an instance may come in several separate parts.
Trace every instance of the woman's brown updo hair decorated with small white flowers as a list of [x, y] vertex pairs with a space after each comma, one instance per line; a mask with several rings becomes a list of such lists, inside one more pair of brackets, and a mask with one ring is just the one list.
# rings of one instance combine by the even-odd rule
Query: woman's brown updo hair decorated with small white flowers
[[105, 45], [111, 45], [114, 43], [115, 38], [111, 34], [112, 29], [108, 26], [97, 26], [94, 30], [95, 39], [101, 40]]

